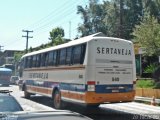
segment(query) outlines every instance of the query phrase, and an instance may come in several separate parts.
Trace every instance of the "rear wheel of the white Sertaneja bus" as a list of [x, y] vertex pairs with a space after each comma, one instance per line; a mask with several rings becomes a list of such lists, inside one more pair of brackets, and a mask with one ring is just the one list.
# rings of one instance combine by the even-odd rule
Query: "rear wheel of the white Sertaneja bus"
[[62, 109], [61, 94], [58, 90], [53, 94], [53, 104], [55, 109]]

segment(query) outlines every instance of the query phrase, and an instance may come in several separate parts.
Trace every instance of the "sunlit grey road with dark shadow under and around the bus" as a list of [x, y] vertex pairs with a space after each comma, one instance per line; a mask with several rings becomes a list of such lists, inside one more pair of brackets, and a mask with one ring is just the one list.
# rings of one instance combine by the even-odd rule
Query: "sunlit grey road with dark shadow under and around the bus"
[[[23, 98], [23, 92], [18, 86], [0, 87], [9, 89], [11, 94], [19, 101], [25, 111], [55, 110], [52, 100], [43, 96], [32, 96], [30, 99]], [[81, 105], [69, 104], [64, 108], [86, 115], [94, 120], [153, 120], [160, 119], [160, 107], [145, 105], [136, 102], [102, 104], [99, 108], [86, 109]]]

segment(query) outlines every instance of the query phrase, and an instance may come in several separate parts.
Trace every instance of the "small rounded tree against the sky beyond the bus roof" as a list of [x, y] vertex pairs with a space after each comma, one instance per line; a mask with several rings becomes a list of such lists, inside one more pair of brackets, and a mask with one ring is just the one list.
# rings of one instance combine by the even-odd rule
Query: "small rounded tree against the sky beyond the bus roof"
[[64, 30], [60, 27], [52, 29], [50, 32], [50, 39], [52, 40], [53, 45], [59, 45], [64, 43]]

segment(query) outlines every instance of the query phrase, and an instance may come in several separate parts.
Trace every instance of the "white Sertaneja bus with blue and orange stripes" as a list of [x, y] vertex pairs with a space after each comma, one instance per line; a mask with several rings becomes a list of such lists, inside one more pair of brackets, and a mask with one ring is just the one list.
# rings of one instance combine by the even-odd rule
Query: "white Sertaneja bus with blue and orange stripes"
[[97, 33], [27, 53], [20, 66], [24, 96], [51, 97], [57, 109], [66, 101], [97, 107], [134, 100], [135, 54], [128, 40]]

